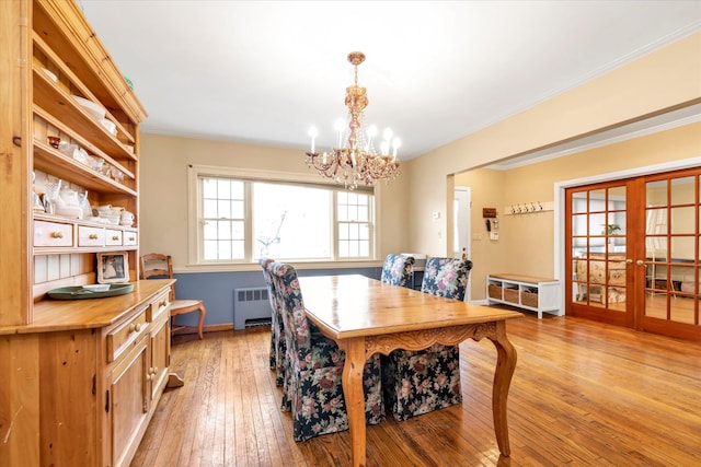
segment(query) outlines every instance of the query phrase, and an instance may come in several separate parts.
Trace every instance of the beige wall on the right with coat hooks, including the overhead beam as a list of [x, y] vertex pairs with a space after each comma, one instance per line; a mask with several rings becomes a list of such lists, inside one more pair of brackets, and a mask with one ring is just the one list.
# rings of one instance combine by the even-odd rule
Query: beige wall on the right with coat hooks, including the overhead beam
[[[407, 173], [413, 187], [410, 191], [409, 225], [412, 250], [436, 256], [450, 255], [451, 243], [446, 232], [451, 217], [444, 215], [441, 222], [429, 223], [426, 222], [426, 213], [447, 211], [451, 197], [446, 192], [452, 186], [453, 174], [699, 102], [701, 33], [409, 161]], [[613, 154], [606, 154], [607, 150], [602, 149], [604, 152], [596, 152], [597, 159], [589, 159], [591, 154], [587, 153], [576, 164], [572, 162], [573, 159], [563, 157], [553, 161], [552, 166], [538, 164], [505, 173], [502, 194], [492, 192], [491, 189], [490, 192], [495, 199], [501, 196], [504, 200], [497, 208], [513, 202], [552, 201], [553, 182], [556, 180], [604, 174], [617, 167], [630, 168], [676, 160], [680, 159], [679, 154], [686, 154], [687, 157], [701, 155], [698, 151], [698, 128], [696, 136], [693, 129], [687, 131], [686, 142], [641, 138], [629, 142], [622, 150], [616, 145]], [[655, 149], [655, 144], [659, 145]], [[680, 148], [680, 144], [686, 147]], [[464, 182], [456, 177], [455, 184], [463, 185]], [[472, 196], [474, 200], [480, 195], [473, 191]], [[496, 205], [495, 201], [486, 202]], [[473, 208], [474, 231], [483, 221], [481, 207], [473, 202]], [[538, 221], [532, 222], [536, 217], [501, 215], [501, 254], [494, 254], [496, 259], [489, 258], [491, 265], [496, 265], [494, 269], [490, 266], [490, 271], [553, 275], [553, 215], [544, 213], [538, 217]], [[535, 244], [539, 247], [533, 248]], [[473, 252], [479, 249], [475, 246], [473, 242]], [[476, 261], [473, 275], [472, 297], [476, 300], [484, 296], [484, 282], [480, 278], [484, 276], [484, 270]]]

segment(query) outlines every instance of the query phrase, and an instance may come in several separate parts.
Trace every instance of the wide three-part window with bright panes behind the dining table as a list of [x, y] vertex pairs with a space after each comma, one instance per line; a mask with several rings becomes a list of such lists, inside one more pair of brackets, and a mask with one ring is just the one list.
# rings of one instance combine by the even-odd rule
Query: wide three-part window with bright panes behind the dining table
[[315, 178], [193, 166], [191, 262], [374, 257], [375, 197]]

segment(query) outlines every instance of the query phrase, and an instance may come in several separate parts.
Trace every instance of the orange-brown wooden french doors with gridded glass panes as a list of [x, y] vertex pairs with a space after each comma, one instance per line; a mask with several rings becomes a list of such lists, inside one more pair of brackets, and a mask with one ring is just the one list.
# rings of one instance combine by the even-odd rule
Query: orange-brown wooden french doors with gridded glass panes
[[565, 312], [701, 340], [701, 168], [565, 191]]

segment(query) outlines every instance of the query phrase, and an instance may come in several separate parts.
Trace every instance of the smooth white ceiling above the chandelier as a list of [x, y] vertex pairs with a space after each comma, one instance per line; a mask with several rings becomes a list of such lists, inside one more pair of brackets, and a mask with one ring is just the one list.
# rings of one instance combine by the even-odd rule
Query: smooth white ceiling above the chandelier
[[145, 132], [304, 148], [314, 125], [324, 149], [361, 50], [367, 121], [404, 160], [701, 30], [701, 0], [79, 3]]

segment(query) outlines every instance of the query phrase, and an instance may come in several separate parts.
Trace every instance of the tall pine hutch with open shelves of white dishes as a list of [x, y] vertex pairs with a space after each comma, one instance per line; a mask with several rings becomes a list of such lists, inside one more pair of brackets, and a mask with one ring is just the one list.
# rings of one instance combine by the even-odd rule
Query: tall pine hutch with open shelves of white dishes
[[[137, 280], [146, 112], [73, 0], [2, 0], [0, 114], [0, 465], [126, 466], [170, 362], [172, 281]], [[35, 192], [58, 179], [136, 222], [46, 209]], [[105, 253], [133, 292], [47, 296], [95, 283]]]

